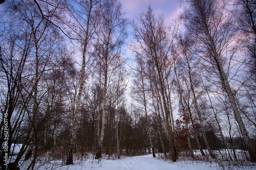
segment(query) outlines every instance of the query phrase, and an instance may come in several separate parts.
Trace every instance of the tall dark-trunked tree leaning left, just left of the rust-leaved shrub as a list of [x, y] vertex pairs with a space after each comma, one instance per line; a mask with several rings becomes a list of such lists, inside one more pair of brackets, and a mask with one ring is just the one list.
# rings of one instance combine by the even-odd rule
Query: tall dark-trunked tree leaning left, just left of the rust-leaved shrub
[[177, 152], [174, 144], [172, 117], [168, 95], [166, 95], [166, 81], [169, 79], [170, 68], [172, 68], [172, 58], [169, 50], [173, 45], [173, 38], [176, 36], [176, 29], [164, 26], [163, 16], [156, 18], [151, 7], [146, 13], [137, 17], [137, 22], [132, 22], [134, 43], [131, 50], [138, 55], [147, 65], [147, 74], [150, 81], [153, 81], [158, 94], [160, 106], [163, 108], [162, 115], [168, 132], [170, 152], [172, 161], [176, 161]]

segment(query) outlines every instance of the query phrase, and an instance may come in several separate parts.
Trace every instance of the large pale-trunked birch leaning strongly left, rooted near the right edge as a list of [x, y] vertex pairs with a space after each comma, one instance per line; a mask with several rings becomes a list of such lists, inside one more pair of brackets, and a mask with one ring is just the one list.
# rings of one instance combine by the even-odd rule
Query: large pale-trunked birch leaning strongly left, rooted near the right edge
[[[224, 90], [226, 91], [226, 93], [228, 95], [230, 104], [232, 106], [234, 117], [236, 117], [240, 131], [245, 140], [247, 150], [250, 154], [251, 162], [256, 162], [256, 152], [255, 152], [254, 148], [252, 147], [252, 143], [250, 141], [249, 134], [246, 130], [243, 119], [239, 112], [239, 109], [238, 109], [238, 106], [236, 103], [236, 99], [234, 98], [234, 94], [231, 90], [231, 87], [227, 80], [227, 76], [223, 69], [223, 65], [220, 61], [221, 54], [217, 50], [217, 49], [221, 49], [221, 48], [225, 47], [225, 45], [227, 45], [227, 43], [229, 43], [228, 42], [229, 37], [226, 38], [226, 36], [228, 36], [228, 34], [226, 34], [227, 32], [225, 32], [226, 30], [229, 30], [229, 28], [228, 28], [229, 25], [225, 26], [224, 24], [222, 24], [222, 23], [224, 23], [223, 19], [226, 17], [226, 15], [224, 15], [223, 13], [218, 14], [217, 12], [219, 10], [212, 9], [212, 5], [217, 6], [219, 4], [215, 4], [215, 3], [203, 4], [201, 1], [193, 1], [193, 2], [191, 2], [191, 5], [194, 8], [194, 11], [198, 11], [198, 13], [196, 13], [194, 16], [192, 15], [190, 17], [194, 17], [194, 18], [196, 17], [198, 19], [198, 22], [200, 22], [200, 23], [198, 23], [198, 25], [201, 26], [200, 29], [197, 29], [194, 31], [202, 34], [203, 38], [200, 39], [201, 42], [204, 43], [207, 46], [207, 49], [212, 52], [212, 57], [215, 62], [214, 65], [216, 65], [217, 70], [219, 71], [221, 83], [223, 85]], [[218, 14], [218, 16], [219, 16], [218, 23], [211, 23], [212, 20], [209, 19], [209, 17], [208, 17], [209, 14], [210, 15]], [[223, 29], [219, 30], [222, 28], [222, 26], [224, 26]], [[231, 26], [231, 24], [230, 24], [230, 26]], [[226, 36], [222, 37], [222, 36], [220, 36], [220, 34], [216, 35], [215, 33], [218, 33], [218, 32], [221, 32], [222, 34], [225, 34]], [[222, 42], [222, 43], [219, 44], [219, 46], [217, 46], [218, 42]]]

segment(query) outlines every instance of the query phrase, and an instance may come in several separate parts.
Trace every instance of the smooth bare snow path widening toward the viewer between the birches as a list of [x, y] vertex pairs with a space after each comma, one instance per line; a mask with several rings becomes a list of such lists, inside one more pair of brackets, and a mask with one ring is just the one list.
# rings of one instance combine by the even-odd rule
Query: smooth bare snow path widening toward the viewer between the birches
[[74, 164], [70, 166], [62, 166], [60, 169], [95, 169], [95, 170], [175, 170], [175, 169], [221, 169], [217, 164], [178, 161], [169, 162], [151, 155], [126, 157], [120, 160], [101, 160], [99, 163], [84, 162], [82, 165]]

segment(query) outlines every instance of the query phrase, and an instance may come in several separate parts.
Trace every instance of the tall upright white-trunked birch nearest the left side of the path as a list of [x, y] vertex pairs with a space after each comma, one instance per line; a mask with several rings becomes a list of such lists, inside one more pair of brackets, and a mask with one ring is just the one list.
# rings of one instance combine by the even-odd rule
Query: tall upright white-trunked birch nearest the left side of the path
[[102, 1], [101, 8], [100, 20], [96, 29], [96, 38], [99, 42], [97, 46], [98, 56], [96, 57], [103, 64], [103, 112], [95, 159], [101, 158], [106, 123], [106, 94], [111, 84], [112, 74], [120, 67], [120, 62], [117, 61], [121, 59], [121, 47], [126, 38], [126, 19], [122, 12], [121, 3], [117, 0]]

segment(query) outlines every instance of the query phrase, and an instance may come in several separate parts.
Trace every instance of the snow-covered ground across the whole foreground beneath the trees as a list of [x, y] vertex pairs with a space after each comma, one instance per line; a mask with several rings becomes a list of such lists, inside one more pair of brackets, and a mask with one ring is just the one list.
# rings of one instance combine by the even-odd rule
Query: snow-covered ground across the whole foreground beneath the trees
[[[41, 163], [40, 163], [41, 164]], [[26, 165], [23, 165], [26, 166]], [[252, 166], [248, 167], [225, 167], [224, 169], [254, 169]], [[20, 167], [20, 169], [26, 169]], [[88, 158], [87, 160], [76, 160], [74, 165], [65, 165], [62, 161], [52, 161], [47, 164], [40, 165], [37, 169], [94, 169], [94, 170], [180, 170], [180, 169], [223, 169], [215, 162], [204, 162], [204, 161], [180, 161], [170, 162], [169, 160], [164, 161], [158, 158], [153, 158], [152, 154], [134, 157], [123, 157], [119, 160], [102, 159], [93, 160]]]

